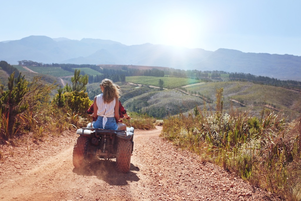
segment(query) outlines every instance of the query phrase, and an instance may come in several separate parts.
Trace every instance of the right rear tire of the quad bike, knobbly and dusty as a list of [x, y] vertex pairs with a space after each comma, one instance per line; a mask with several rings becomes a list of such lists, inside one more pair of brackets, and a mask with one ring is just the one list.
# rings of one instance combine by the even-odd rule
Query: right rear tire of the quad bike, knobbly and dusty
[[118, 171], [128, 172], [130, 170], [131, 152], [132, 142], [119, 138], [116, 153], [116, 166]]

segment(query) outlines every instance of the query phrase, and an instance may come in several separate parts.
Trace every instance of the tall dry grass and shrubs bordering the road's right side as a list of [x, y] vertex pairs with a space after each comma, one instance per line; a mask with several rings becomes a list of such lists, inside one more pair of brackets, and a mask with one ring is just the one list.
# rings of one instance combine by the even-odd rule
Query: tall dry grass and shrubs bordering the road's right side
[[[206, 109], [194, 116], [178, 115], [164, 120], [161, 137], [202, 155], [250, 182], [285, 199], [301, 195], [301, 118], [286, 123], [281, 113], [263, 108], [261, 118], [250, 111], [222, 113], [222, 90], [217, 90], [219, 111]], [[292, 182], [293, 181], [293, 182]]]

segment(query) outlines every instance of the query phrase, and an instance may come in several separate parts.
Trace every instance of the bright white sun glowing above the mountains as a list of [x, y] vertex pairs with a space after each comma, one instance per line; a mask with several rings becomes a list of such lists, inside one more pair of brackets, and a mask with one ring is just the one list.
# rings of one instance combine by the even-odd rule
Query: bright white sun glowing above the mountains
[[162, 24], [161, 37], [163, 44], [190, 47], [195, 39], [195, 25], [191, 20], [176, 17]]

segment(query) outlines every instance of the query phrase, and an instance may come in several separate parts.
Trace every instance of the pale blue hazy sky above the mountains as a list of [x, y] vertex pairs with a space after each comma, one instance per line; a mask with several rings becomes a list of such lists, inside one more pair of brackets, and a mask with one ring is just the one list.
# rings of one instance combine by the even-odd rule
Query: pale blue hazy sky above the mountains
[[301, 56], [299, 0], [0, 0], [0, 41], [36, 35]]

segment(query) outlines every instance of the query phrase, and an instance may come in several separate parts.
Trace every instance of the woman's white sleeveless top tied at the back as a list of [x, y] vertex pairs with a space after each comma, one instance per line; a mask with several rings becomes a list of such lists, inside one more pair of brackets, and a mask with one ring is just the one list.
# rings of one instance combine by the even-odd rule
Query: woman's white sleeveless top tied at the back
[[104, 103], [102, 96], [103, 96], [102, 93], [96, 96], [96, 105], [98, 107], [97, 115], [104, 117], [102, 120], [102, 125], [104, 128], [108, 120], [107, 117], [115, 116], [114, 108], [116, 104], [116, 99], [113, 99], [113, 101], [111, 101], [110, 103]]

